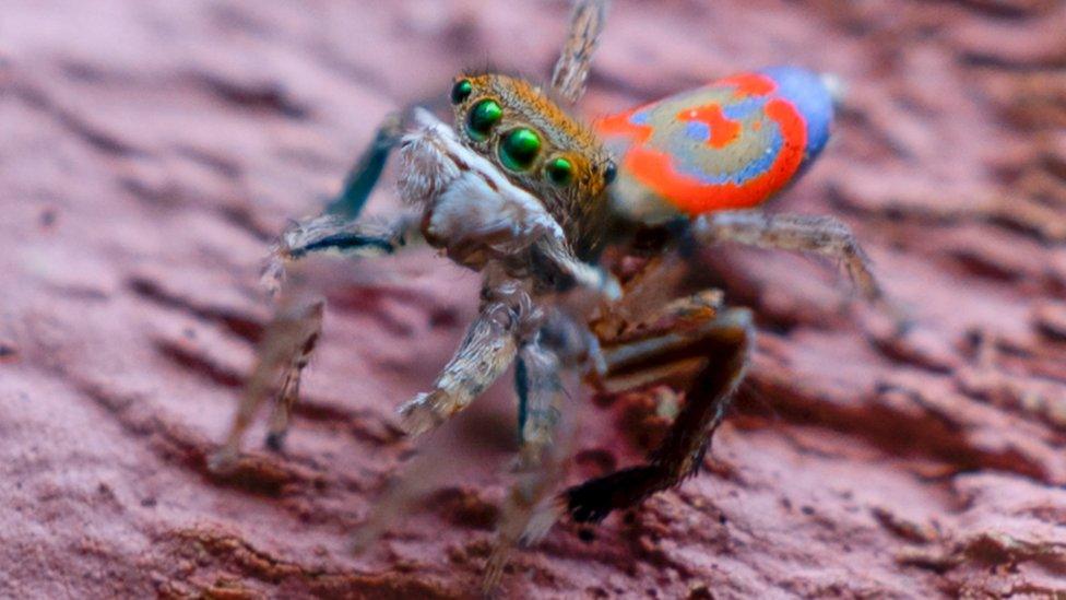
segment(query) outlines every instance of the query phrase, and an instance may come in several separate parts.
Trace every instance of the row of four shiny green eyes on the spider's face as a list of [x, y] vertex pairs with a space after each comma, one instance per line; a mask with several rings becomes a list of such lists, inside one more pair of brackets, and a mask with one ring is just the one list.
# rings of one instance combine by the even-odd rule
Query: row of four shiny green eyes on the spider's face
[[[462, 104], [473, 94], [470, 80], [455, 82], [451, 90], [452, 104]], [[485, 141], [504, 118], [504, 108], [491, 98], [474, 104], [466, 116], [466, 134], [474, 141]], [[528, 127], [517, 127], [505, 132], [499, 140], [496, 153], [500, 163], [508, 169], [521, 173], [529, 170], [536, 162], [542, 149], [541, 136]], [[573, 163], [557, 156], [544, 165], [544, 174], [552, 184], [566, 187], [573, 183]]]

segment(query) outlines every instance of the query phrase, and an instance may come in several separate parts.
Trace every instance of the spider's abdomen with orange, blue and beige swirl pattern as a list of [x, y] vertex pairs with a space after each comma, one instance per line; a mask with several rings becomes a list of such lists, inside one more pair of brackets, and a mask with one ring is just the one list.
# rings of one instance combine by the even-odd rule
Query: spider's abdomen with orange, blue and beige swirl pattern
[[759, 205], [817, 157], [832, 115], [824, 77], [778, 67], [600, 119], [619, 163], [613, 205], [643, 222]]

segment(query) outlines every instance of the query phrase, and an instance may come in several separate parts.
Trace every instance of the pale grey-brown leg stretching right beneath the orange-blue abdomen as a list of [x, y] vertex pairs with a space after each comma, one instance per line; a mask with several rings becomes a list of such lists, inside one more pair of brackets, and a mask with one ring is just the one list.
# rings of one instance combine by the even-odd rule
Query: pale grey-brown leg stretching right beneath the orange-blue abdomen
[[759, 248], [814, 252], [839, 260], [870, 302], [885, 294], [869, 270], [869, 259], [848, 225], [831, 216], [726, 211], [692, 221], [695, 237], [704, 244], [736, 242]]

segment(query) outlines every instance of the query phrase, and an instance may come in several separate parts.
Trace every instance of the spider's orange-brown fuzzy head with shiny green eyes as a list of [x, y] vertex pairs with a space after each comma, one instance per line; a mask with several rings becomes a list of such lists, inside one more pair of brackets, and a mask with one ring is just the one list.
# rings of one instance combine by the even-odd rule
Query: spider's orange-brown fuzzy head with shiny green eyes
[[451, 103], [463, 144], [540, 198], [560, 223], [600, 211], [614, 161], [591, 129], [538, 87], [508, 75], [461, 74]]

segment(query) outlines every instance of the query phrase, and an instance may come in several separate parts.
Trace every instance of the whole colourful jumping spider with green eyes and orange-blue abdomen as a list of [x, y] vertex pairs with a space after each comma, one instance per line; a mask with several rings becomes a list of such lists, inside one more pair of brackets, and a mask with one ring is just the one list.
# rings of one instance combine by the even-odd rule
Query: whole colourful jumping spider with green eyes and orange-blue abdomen
[[[577, 2], [553, 97], [580, 97], [605, 3]], [[429, 431], [514, 363], [518, 464], [526, 477], [505, 501], [488, 581], [509, 548], [558, 518], [599, 521], [698, 470], [744, 376], [755, 328], [750, 313], [725, 306], [718, 291], [670, 297], [671, 282], [699, 257], [677, 250], [738, 242], [820, 254], [841, 261], [868, 299], [881, 298], [845, 225], [758, 210], [825, 146], [833, 110], [825, 78], [797, 68], [726, 78], [591, 128], [548, 96], [522, 79], [466, 73], [451, 81], [454, 127], [415, 109], [401, 136], [402, 119], [388, 119], [327, 212], [282, 235], [269, 271], [280, 281], [286, 263], [310, 252], [371, 256], [422, 237], [483, 274], [478, 316], [430, 391], [403, 403], [400, 416], [411, 435]], [[388, 223], [359, 220], [396, 144], [407, 210]], [[638, 254], [644, 267], [619, 286], [612, 257]], [[575, 287], [597, 302], [560, 294]], [[241, 433], [279, 376], [268, 439], [281, 447], [322, 304], [282, 307], [215, 468], [236, 460]], [[567, 397], [564, 373], [608, 393], [671, 386], [684, 405], [647, 462], [553, 496], [560, 462], [546, 450]]]

